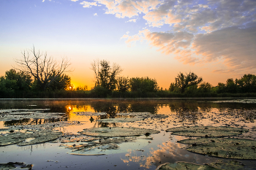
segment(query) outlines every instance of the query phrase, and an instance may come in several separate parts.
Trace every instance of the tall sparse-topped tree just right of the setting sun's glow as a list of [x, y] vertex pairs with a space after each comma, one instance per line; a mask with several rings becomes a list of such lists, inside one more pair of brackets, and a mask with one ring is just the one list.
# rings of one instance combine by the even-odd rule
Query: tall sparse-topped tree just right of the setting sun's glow
[[109, 91], [116, 89], [116, 76], [122, 72], [118, 64], [113, 63], [111, 67], [108, 61], [94, 61], [91, 63], [91, 69], [94, 71], [96, 79], [95, 86], [105, 88]]

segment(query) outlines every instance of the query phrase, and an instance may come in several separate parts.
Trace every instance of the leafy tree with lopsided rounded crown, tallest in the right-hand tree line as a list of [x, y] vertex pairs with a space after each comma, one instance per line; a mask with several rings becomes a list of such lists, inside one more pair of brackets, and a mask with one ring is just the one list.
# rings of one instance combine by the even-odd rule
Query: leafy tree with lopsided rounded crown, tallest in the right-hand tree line
[[186, 88], [192, 85], [198, 85], [202, 81], [203, 79], [201, 77], [197, 77], [193, 72], [189, 72], [187, 75], [180, 73], [175, 78], [175, 85], [181, 90], [181, 93], [184, 93]]

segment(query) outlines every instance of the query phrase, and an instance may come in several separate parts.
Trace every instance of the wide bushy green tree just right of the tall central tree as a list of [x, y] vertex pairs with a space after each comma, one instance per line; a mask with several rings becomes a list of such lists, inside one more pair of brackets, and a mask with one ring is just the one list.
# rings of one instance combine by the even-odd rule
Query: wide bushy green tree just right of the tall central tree
[[149, 77], [132, 77], [130, 80], [130, 86], [132, 91], [154, 92], [157, 91], [157, 80]]

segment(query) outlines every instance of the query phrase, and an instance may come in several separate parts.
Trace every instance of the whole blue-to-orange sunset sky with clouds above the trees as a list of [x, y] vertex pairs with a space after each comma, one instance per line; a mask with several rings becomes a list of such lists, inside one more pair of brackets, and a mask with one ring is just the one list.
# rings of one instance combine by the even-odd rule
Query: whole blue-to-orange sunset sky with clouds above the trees
[[256, 1], [1, 0], [0, 76], [33, 46], [68, 58], [75, 86], [94, 86], [94, 60], [164, 89], [180, 72], [216, 86], [256, 74]]

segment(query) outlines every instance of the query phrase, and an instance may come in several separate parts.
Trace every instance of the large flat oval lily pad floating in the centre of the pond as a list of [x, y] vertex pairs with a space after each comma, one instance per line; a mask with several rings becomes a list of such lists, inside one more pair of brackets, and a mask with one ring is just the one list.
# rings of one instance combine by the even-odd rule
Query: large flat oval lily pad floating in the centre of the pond
[[88, 128], [80, 134], [100, 137], [140, 136], [145, 134], [158, 134], [160, 131], [147, 128]]

